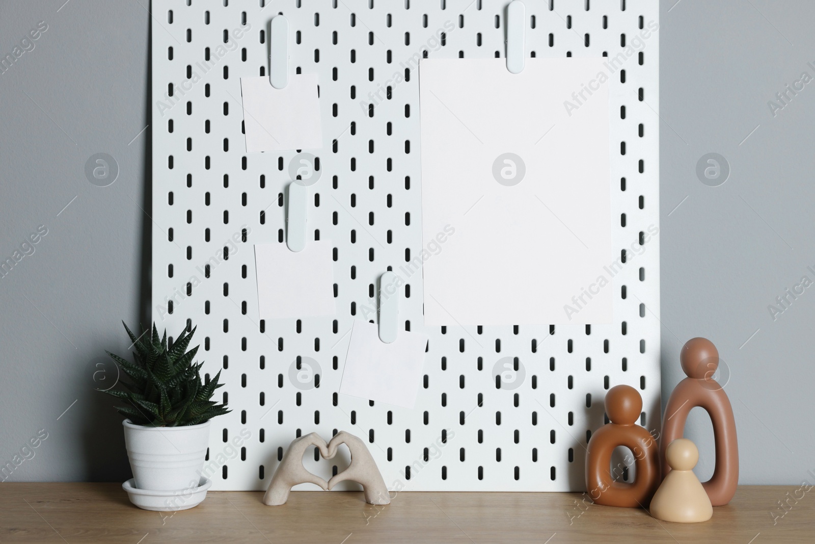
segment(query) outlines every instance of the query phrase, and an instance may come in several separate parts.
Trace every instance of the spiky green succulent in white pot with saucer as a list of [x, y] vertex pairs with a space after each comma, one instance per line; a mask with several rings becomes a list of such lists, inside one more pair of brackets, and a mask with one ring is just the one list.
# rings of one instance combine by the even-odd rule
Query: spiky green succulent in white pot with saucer
[[229, 412], [225, 405], [210, 400], [222, 386], [221, 373], [201, 382], [203, 363], [192, 362], [198, 346], [187, 352], [196, 329], [183, 330], [172, 345], [167, 343], [166, 330], [159, 338], [155, 324], [152, 334], [145, 331], [138, 338], [127, 325], [125, 329], [135, 347], [134, 362], [106, 353], [130, 381], [104, 392], [126, 402], [117, 409], [126, 418], [122, 424], [134, 476], [130, 487], [142, 490], [141, 494], [160, 492], [154, 495], [162, 497], [194, 489], [205, 483], [201, 469], [209, 444], [209, 419]]

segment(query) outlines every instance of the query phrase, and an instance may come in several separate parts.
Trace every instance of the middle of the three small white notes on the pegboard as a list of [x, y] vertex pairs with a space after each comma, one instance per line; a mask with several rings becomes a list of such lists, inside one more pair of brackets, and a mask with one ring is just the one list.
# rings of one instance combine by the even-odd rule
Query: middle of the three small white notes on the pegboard
[[336, 314], [330, 241], [308, 241], [297, 253], [280, 243], [254, 250], [261, 319]]

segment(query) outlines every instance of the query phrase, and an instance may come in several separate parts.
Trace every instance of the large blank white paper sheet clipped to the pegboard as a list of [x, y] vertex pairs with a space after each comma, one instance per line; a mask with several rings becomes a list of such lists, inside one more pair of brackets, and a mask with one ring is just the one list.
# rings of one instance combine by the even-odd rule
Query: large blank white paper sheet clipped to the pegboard
[[421, 60], [425, 325], [611, 322], [602, 62]]

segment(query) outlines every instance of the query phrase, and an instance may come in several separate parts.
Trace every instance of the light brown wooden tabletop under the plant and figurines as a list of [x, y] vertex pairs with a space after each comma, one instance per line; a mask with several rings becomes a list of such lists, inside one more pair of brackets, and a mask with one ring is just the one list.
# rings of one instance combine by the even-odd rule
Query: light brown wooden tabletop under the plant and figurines
[[672, 524], [584, 504], [579, 493], [403, 492], [371, 506], [362, 493], [316, 491], [264, 506], [262, 493], [222, 491], [192, 510], [160, 513], [132, 506], [120, 484], [5, 483], [0, 542], [815, 542], [815, 489], [799, 489], [741, 486], [712, 520]]

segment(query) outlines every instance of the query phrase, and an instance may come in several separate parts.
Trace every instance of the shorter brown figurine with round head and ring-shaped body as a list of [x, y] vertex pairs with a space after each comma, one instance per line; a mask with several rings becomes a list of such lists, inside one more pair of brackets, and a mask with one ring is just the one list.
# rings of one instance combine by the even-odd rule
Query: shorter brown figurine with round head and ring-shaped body
[[[586, 456], [586, 487], [597, 504], [645, 508], [659, 487], [659, 450], [654, 437], [637, 425], [641, 411], [642, 397], [633, 387], [618, 385], [606, 393], [606, 415], [611, 422], [588, 440]], [[611, 475], [611, 453], [617, 446], [634, 454], [637, 473], [633, 483], [615, 481]]]

